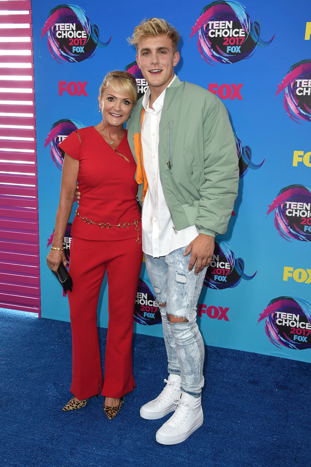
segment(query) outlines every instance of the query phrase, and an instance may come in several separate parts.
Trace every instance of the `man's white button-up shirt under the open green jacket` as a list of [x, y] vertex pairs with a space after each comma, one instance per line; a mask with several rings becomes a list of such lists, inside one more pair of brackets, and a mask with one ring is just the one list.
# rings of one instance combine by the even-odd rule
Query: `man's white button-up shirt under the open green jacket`
[[[173, 83], [174, 79], [167, 86]], [[165, 90], [149, 107], [150, 89], [148, 87], [143, 99], [145, 109], [141, 142], [144, 156], [144, 167], [148, 181], [142, 211], [142, 241], [146, 255], [158, 258], [165, 256], [177, 248], [186, 247], [198, 235], [195, 226], [177, 231], [164, 198], [159, 172], [159, 124], [164, 103]]]

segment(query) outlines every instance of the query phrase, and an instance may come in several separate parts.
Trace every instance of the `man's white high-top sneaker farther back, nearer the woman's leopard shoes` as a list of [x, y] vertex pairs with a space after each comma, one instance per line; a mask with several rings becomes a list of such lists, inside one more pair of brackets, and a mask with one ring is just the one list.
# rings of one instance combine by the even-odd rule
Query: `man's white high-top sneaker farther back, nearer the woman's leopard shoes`
[[140, 416], [147, 420], [162, 418], [170, 412], [174, 412], [176, 404], [174, 400], [181, 395], [181, 377], [170, 374], [164, 380], [166, 386], [158, 397], [142, 406]]

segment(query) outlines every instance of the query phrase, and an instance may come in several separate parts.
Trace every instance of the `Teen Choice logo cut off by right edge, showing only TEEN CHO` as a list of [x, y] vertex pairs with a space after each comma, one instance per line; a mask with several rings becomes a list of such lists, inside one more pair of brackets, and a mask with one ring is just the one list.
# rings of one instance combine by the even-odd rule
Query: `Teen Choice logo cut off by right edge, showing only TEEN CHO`
[[302, 60], [289, 68], [278, 85], [277, 96], [284, 91], [283, 104], [289, 117], [297, 123], [311, 121], [311, 59]]

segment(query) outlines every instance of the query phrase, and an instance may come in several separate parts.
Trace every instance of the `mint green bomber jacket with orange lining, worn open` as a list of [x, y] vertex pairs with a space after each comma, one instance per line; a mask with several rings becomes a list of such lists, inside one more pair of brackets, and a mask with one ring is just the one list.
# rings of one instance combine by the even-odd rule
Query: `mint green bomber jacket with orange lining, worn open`
[[[128, 141], [140, 173], [136, 171], [141, 204], [147, 184], [139, 137], [142, 99], [127, 122]], [[178, 77], [165, 92], [159, 125], [159, 172], [177, 231], [195, 225], [199, 233], [211, 236], [226, 232], [239, 183], [228, 113], [214, 94]]]

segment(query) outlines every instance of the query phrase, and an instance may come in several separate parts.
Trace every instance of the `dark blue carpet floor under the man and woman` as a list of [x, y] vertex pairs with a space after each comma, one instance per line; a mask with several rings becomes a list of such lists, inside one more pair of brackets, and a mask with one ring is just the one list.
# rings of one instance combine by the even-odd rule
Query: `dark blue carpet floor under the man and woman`
[[[308, 363], [209, 347], [203, 426], [162, 446], [155, 433], [169, 416], [139, 416], [167, 377], [161, 338], [134, 336], [137, 388], [108, 420], [102, 397], [61, 410], [71, 398], [69, 323], [0, 310], [0, 329], [1, 466], [311, 466]], [[105, 340], [100, 329], [102, 350]]]

